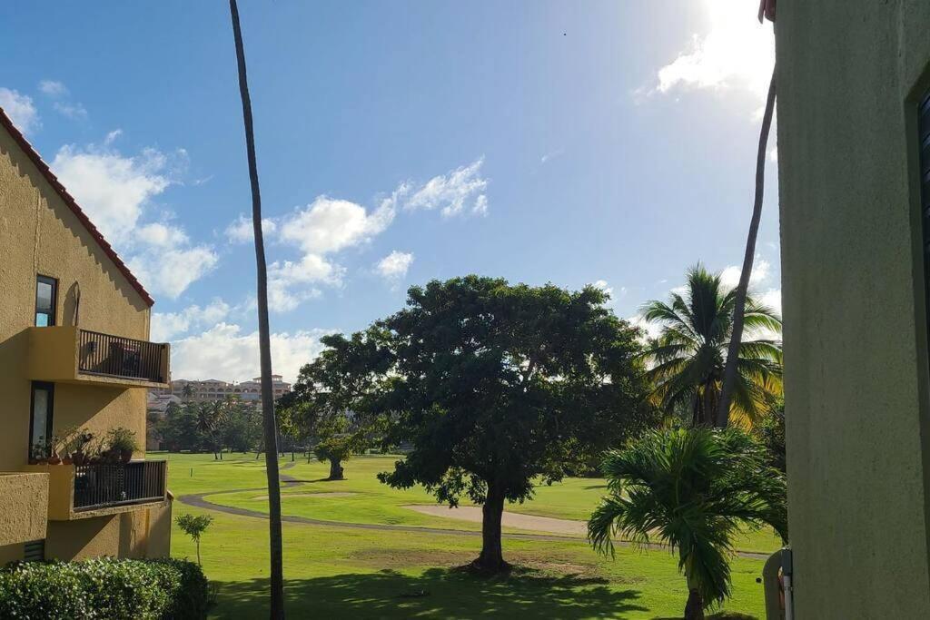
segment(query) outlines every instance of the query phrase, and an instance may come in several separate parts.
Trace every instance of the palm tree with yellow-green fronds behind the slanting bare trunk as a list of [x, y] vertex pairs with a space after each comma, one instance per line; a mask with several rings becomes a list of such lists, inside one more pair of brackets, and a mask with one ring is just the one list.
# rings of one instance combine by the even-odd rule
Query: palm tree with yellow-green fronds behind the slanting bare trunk
[[[698, 264], [688, 270], [684, 292], [672, 291], [668, 302], [650, 301], [643, 317], [661, 325], [646, 350], [652, 401], [667, 413], [691, 417], [693, 426], [712, 426], [720, 401], [727, 349], [733, 330], [736, 292], [725, 290], [720, 275]], [[747, 297], [746, 327], [755, 336], [779, 335], [774, 310]], [[781, 395], [781, 343], [755, 337], [739, 345], [737, 381], [730, 413], [751, 426]]]

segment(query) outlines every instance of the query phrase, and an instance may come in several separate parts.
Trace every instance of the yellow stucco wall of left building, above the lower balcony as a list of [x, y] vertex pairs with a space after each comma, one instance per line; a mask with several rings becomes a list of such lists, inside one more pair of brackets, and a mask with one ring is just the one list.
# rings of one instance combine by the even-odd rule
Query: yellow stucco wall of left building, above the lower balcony
[[[147, 339], [149, 308], [16, 142], [0, 130], [0, 470], [28, 455], [30, 384], [27, 327], [34, 322], [35, 277], [59, 281], [56, 323]], [[95, 407], [100, 406], [100, 409]], [[144, 442], [144, 390], [56, 386], [55, 427], [125, 426]]]

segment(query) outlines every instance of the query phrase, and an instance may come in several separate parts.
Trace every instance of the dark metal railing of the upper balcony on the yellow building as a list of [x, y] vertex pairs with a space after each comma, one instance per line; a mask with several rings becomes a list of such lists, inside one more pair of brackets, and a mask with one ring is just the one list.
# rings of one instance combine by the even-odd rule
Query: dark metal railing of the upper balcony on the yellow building
[[81, 330], [78, 372], [165, 383], [167, 345]]

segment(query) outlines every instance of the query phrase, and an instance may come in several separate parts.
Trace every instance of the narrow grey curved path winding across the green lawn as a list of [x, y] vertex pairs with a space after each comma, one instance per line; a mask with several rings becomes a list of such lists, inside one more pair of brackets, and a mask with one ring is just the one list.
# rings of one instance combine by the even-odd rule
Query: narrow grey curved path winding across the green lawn
[[[286, 463], [282, 469], [289, 469], [294, 467], [295, 463]], [[303, 484], [305, 481], [298, 480], [286, 474], [281, 474], [282, 486], [290, 487], [296, 486], [298, 484]], [[230, 489], [228, 491], [210, 491], [207, 493], [196, 493], [192, 495], [180, 495], [178, 501], [181, 504], [187, 504], [188, 506], [193, 506], [194, 508], [203, 508], [205, 510], [214, 510], [216, 512], [223, 512], [226, 514], [236, 515], [238, 517], [251, 517], [253, 519], [268, 519], [268, 514], [265, 512], [260, 512], [259, 510], [250, 510], [248, 508], [237, 508], [234, 506], [223, 506], [222, 504], [214, 504], [213, 502], [206, 499], [207, 495], [225, 495], [228, 493], [246, 493], [248, 491], [267, 491], [267, 487], [253, 488], [253, 489]], [[441, 534], [444, 536], [480, 536], [481, 532], [473, 530], [453, 530], [447, 528], [438, 528], [438, 527], [422, 527], [418, 525], [386, 525], [382, 523], [347, 523], [345, 521], [327, 521], [325, 519], [311, 519], [309, 517], [299, 517], [296, 515], [281, 515], [281, 521], [287, 523], [302, 523], [304, 525], [318, 525], [325, 527], [342, 527], [349, 528], [352, 530], [375, 530], [375, 531], [392, 531], [392, 532], [412, 532], [416, 534]], [[584, 538], [579, 538], [578, 536], [560, 536], [557, 534], [508, 534], [503, 533], [504, 538], [512, 538], [514, 540], [542, 540], [550, 542], [560, 542], [560, 543], [585, 543], [587, 540]], [[623, 547], [628, 547], [631, 543], [620, 541], [618, 543]], [[663, 547], [661, 545], [650, 544], [647, 545], [649, 548], [657, 549], [667, 549], [668, 547]], [[752, 560], [766, 560], [768, 559], [768, 553], [754, 553], [751, 551], [737, 551], [737, 556], [740, 558], [750, 558]]]

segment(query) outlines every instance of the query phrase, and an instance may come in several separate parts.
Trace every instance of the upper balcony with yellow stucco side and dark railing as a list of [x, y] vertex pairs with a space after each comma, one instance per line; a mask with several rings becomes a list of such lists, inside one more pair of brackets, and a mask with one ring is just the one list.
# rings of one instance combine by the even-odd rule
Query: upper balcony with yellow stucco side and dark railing
[[125, 388], [169, 386], [169, 347], [71, 325], [29, 328], [29, 378]]

